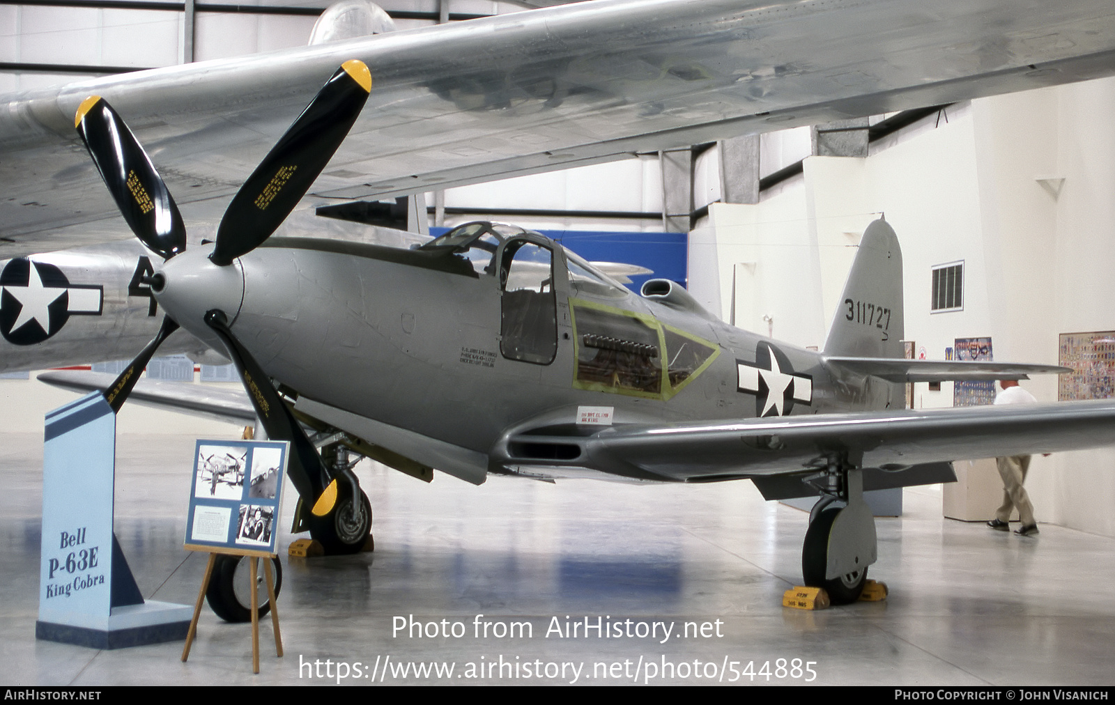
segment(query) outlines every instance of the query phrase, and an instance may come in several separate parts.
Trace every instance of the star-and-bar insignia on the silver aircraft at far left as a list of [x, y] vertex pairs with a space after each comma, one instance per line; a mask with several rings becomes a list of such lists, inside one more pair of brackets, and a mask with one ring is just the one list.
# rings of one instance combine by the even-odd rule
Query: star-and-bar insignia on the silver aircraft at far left
[[104, 298], [100, 286], [70, 284], [54, 264], [16, 258], [0, 272], [0, 335], [13, 345], [42, 342], [70, 316], [99, 316]]

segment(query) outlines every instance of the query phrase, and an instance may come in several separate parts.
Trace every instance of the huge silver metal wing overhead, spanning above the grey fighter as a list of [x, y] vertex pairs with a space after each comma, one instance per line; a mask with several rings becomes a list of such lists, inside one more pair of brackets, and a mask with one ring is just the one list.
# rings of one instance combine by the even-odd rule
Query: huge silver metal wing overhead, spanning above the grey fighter
[[1115, 4], [597, 0], [3, 95], [0, 257], [128, 236], [74, 131], [86, 96], [196, 218], [353, 58], [371, 97], [309, 205], [1107, 76]]

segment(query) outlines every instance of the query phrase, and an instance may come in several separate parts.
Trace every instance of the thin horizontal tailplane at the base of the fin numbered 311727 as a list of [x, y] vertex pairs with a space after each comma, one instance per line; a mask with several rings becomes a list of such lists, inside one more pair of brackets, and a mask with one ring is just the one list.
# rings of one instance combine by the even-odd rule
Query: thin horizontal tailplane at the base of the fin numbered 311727
[[1020, 365], [1014, 363], [960, 360], [906, 360], [879, 357], [825, 357], [830, 368], [840, 375], [871, 375], [886, 382], [954, 382], [989, 379], [1028, 379], [1029, 375], [1065, 375], [1073, 370], [1057, 365]]

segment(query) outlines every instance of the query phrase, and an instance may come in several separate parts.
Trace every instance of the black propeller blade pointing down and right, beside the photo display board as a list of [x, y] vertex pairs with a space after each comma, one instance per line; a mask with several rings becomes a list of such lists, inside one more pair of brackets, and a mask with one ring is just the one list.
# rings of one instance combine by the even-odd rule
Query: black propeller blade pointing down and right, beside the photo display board
[[288, 476], [303, 498], [318, 498], [324, 490], [324, 484], [330, 480], [330, 473], [321, 463], [321, 456], [306, 436], [302, 427], [298, 425], [294, 415], [291, 414], [287, 405], [279, 398], [279, 394], [255, 358], [244, 349], [236, 336], [229, 329], [229, 318], [224, 311], [214, 309], [205, 313], [205, 323], [213, 329], [225, 348], [229, 356], [236, 364], [236, 370], [244, 383], [244, 390], [248, 398], [255, 407], [263, 428], [268, 432], [268, 437], [275, 441], [290, 441], [291, 455], [288, 466]]

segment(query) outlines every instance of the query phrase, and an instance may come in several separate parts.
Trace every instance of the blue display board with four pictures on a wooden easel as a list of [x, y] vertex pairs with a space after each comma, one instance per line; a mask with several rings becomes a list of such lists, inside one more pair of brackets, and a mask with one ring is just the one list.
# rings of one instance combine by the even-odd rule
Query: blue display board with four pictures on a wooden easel
[[285, 441], [198, 441], [186, 548], [275, 552]]

